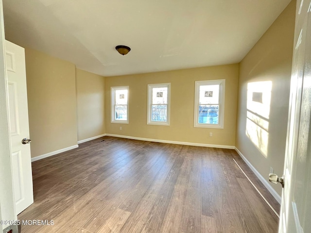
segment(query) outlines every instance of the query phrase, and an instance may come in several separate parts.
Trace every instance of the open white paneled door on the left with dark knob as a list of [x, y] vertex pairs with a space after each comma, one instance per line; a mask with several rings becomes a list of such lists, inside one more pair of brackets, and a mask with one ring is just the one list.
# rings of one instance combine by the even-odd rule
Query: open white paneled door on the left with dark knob
[[22, 139], [29, 139], [25, 51], [23, 48], [5, 41], [5, 52], [12, 142], [13, 186], [16, 214], [18, 215], [34, 203], [30, 144], [22, 143]]

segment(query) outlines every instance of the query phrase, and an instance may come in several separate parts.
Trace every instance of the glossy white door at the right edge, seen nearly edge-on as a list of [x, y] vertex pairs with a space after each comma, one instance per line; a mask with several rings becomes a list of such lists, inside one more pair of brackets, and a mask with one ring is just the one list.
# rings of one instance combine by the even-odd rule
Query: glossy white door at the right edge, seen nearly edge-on
[[311, 0], [297, 0], [279, 233], [311, 232]]

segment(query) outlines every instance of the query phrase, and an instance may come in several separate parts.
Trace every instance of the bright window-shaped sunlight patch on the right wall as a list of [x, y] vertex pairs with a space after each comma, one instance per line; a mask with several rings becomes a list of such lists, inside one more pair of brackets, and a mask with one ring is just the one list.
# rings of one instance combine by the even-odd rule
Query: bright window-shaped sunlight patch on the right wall
[[271, 90], [271, 81], [247, 84], [245, 133], [265, 157], [268, 156]]

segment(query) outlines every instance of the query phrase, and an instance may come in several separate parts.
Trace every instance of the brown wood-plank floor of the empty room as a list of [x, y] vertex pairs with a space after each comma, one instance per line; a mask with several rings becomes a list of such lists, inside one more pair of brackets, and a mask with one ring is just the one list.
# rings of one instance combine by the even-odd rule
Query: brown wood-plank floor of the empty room
[[[104, 140], [103, 142], [100, 142]], [[235, 150], [105, 136], [33, 166], [22, 233], [276, 233], [279, 204]]]

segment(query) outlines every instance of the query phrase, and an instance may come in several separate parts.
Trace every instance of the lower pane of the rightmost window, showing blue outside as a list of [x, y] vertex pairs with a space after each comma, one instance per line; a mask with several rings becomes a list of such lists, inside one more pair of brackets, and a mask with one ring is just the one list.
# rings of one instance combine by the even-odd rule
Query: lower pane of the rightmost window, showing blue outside
[[199, 105], [200, 124], [218, 124], [219, 105]]

